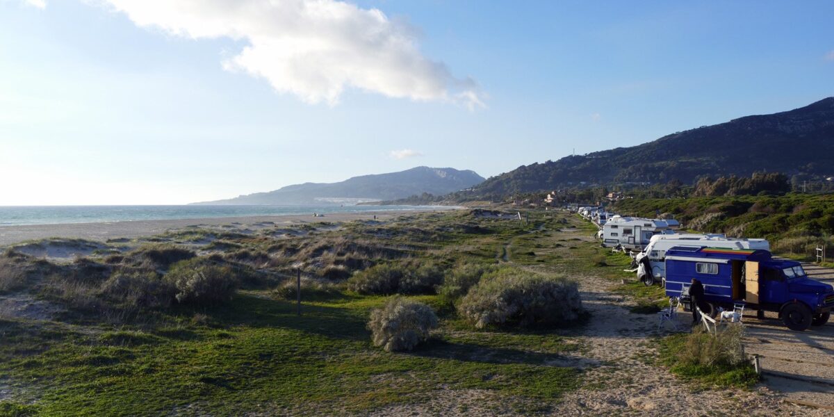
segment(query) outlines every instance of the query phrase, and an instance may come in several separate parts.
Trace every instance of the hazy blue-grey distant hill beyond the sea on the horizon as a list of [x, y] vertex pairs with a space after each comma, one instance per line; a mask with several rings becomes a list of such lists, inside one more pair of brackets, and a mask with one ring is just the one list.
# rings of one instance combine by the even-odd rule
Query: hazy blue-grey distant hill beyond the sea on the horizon
[[340, 183], [302, 183], [269, 193], [241, 195], [195, 204], [309, 204], [359, 203], [393, 200], [414, 194], [445, 194], [484, 181], [475, 171], [455, 168], [411, 168], [399, 173], [379, 173], [346, 179]]

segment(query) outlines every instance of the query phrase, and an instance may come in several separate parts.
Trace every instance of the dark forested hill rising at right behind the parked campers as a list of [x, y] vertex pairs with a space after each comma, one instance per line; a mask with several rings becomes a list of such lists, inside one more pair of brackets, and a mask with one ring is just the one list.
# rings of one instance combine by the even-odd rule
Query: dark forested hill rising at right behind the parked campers
[[789, 112], [736, 118], [650, 143], [533, 163], [480, 183], [459, 197], [496, 197], [582, 183], [694, 183], [755, 172], [834, 175], [834, 98]]

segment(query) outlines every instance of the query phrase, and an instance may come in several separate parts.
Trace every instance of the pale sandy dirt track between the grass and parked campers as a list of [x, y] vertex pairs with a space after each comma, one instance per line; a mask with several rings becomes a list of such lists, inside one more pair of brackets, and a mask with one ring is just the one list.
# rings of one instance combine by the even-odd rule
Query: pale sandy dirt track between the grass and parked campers
[[[590, 240], [581, 232], [560, 234], [562, 239]], [[657, 350], [655, 314], [632, 314], [627, 299], [612, 294], [615, 284], [595, 276], [578, 277], [582, 301], [592, 314], [581, 336], [588, 359], [603, 365], [586, 372], [586, 386], [567, 394], [557, 414], [705, 415], [826, 415], [827, 410], [785, 402], [766, 386], [755, 389], [696, 390], [653, 364]], [[686, 329], [689, 316], [678, 315]]]

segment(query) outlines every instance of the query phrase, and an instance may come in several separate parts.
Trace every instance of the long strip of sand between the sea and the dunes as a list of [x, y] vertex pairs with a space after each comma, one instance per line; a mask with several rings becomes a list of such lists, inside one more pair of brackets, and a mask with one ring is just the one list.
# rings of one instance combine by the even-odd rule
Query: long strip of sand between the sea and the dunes
[[[141, 236], [161, 234], [168, 229], [181, 229], [194, 225], [218, 226], [222, 224], [301, 224], [311, 222], [348, 222], [352, 220], [393, 219], [409, 214], [440, 211], [445, 208], [391, 210], [355, 213], [332, 213], [314, 217], [313, 214], [285, 214], [276, 216], [224, 217], [214, 219], [167, 219], [138, 220], [130, 222], [76, 223], [76, 224], [33, 224], [0, 227], [0, 247], [27, 240], [46, 238], [91, 239], [133, 239]], [[455, 208], [448, 208], [455, 209]]]

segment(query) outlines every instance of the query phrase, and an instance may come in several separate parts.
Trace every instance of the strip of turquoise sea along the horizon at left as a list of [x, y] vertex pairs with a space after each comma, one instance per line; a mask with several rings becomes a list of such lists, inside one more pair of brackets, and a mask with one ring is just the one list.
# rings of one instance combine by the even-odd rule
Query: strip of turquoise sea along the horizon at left
[[210, 219], [279, 214], [354, 213], [414, 210], [426, 206], [0, 206], [0, 227], [23, 224], [123, 222], [134, 220]]

